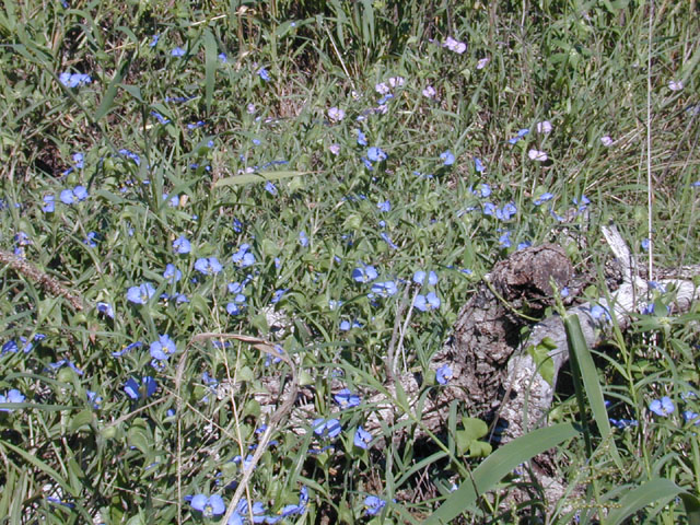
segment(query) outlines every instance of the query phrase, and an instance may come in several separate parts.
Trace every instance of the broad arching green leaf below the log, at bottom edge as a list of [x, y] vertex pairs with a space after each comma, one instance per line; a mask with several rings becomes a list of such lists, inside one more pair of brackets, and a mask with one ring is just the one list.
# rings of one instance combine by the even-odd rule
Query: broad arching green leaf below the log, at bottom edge
[[471, 480], [464, 480], [423, 523], [446, 524], [471, 508], [477, 500], [493, 490], [495, 485], [521, 463], [574, 438], [579, 430], [571, 423], [538, 429], [512, 441], [487, 457], [472, 472]]

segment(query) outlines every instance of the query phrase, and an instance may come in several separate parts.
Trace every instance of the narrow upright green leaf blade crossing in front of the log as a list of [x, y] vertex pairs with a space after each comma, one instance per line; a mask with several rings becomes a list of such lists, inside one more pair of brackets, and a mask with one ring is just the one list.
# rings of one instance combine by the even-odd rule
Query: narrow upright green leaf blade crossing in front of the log
[[[583, 336], [583, 331], [581, 330], [579, 317], [576, 315], [564, 316], [564, 328], [567, 330], [572, 373], [580, 375], [588, 399], [588, 405], [591, 405], [593, 419], [598, 427], [598, 432], [600, 432], [600, 436], [608, 444], [615, 464], [620, 470], [623, 470], [622, 458], [615, 445], [615, 439], [611, 435], [612, 430], [610, 429], [610, 420], [608, 419], [608, 411], [605, 407], [605, 398], [603, 397], [603, 388], [600, 388], [600, 381], [598, 380], [598, 371], [593, 362], [593, 357], [591, 355], [591, 350], [588, 350], [588, 345]], [[583, 407], [581, 407], [581, 409], [583, 410]]]

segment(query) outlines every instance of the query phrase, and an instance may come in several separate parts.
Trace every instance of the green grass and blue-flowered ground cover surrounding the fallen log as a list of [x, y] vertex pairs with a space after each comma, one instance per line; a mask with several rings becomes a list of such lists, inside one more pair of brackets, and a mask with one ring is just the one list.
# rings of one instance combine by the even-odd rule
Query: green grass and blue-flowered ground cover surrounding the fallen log
[[[359, 393], [389, 348], [425, 392], [448, 383], [431, 355], [530, 244], [565, 245], [582, 301], [606, 293], [610, 220], [641, 258], [698, 261], [698, 20], [622, 0], [5, 1], [0, 248], [54, 288], [3, 259], [0, 523], [430, 516], [489, 448], [457, 443], [458, 410], [429, 443], [369, 433]], [[662, 479], [699, 495], [697, 308], [672, 299], [596, 354], [623, 468], [573, 438], [561, 475], [595, 491], [509, 509], [513, 475], [465, 523], [604, 522]], [[283, 353], [192, 342], [208, 332]], [[270, 422], [256, 394], [288, 361], [314, 393], [304, 431], [276, 422], [236, 503]], [[561, 392], [550, 421], [581, 417]], [[656, 499], [630, 518], [692, 516]]]

